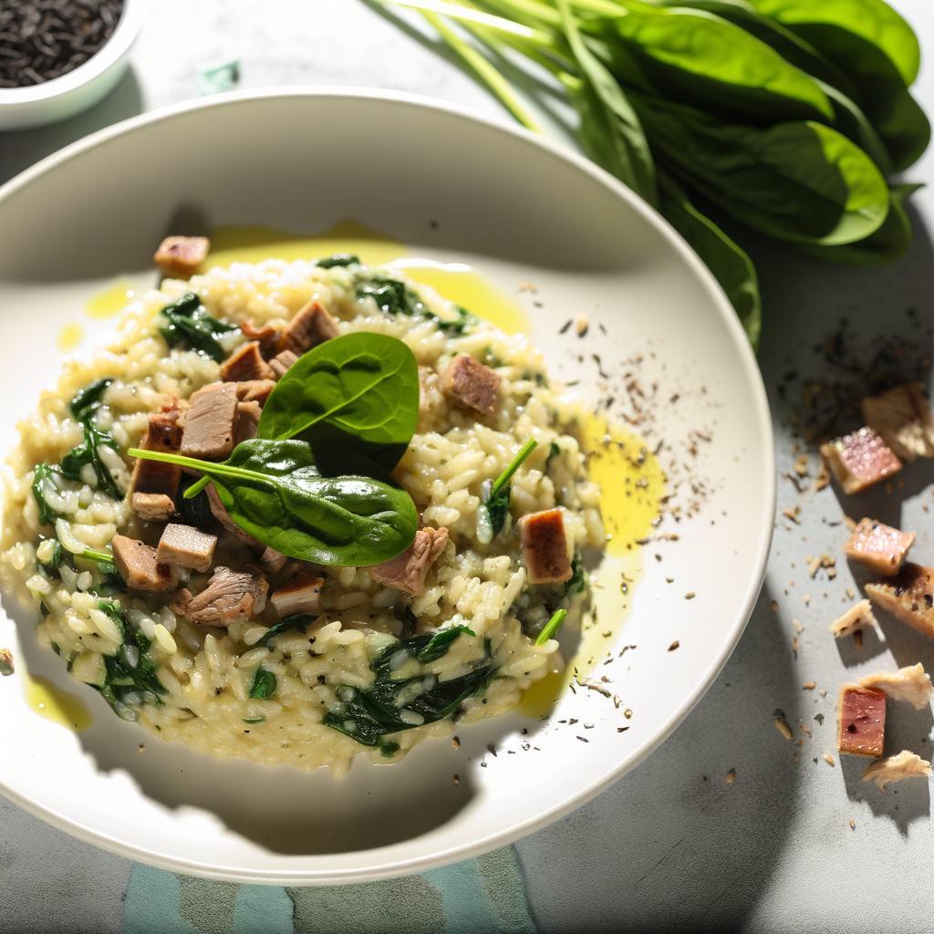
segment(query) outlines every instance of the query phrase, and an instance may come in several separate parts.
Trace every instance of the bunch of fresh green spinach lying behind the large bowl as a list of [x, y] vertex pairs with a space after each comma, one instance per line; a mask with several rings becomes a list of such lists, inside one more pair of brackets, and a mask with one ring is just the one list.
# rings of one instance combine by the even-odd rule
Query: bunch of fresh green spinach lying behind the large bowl
[[431, 9], [531, 130], [492, 62], [512, 47], [558, 78], [587, 155], [685, 237], [754, 347], [756, 270], [711, 214], [832, 262], [894, 262], [911, 245], [914, 187], [886, 178], [924, 152], [930, 125], [909, 92], [917, 39], [883, 0], [450, 0], [471, 42]]

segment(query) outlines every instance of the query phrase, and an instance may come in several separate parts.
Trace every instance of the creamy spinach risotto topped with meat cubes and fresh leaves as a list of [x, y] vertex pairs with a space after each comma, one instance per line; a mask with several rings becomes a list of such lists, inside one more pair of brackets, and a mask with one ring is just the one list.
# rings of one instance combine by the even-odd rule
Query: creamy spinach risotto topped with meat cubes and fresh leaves
[[526, 337], [389, 267], [165, 278], [21, 422], [5, 582], [155, 736], [398, 761], [563, 668], [605, 541], [586, 416]]

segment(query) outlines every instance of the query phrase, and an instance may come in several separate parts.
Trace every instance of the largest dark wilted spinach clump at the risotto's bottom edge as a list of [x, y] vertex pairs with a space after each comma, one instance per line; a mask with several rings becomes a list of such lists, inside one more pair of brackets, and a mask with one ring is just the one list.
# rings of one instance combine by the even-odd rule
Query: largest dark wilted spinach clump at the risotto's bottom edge
[[[460, 630], [458, 636], [466, 634], [461, 627], [456, 629]], [[445, 636], [444, 644], [439, 645], [438, 636]], [[390, 645], [371, 666], [375, 675], [371, 686], [362, 689], [341, 685], [337, 688], [337, 697], [345, 704], [346, 712], [341, 715], [329, 712], [324, 715], [324, 724], [363, 745], [382, 746], [383, 754], [392, 756], [398, 750], [398, 745], [388, 743], [384, 739], [387, 734], [443, 720], [453, 714], [467, 698], [482, 693], [493, 676], [493, 658], [489, 640], [485, 639], [483, 658], [475, 661], [473, 670], [460, 678], [438, 681], [432, 673], [421, 670], [420, 666], [419, 672], [410, 677], [393, 677], [400, 668], [399, 653], [421, 659], [423, 653], [431, 651], [434, 660], [441, 658], [450, 649], [454, 639], [447, 637], [443, 631], [433, 636], [416, 636]], [[430, 650], [432, 642], [435, 647]], [[439, 651], [440, 654], [435, 654]], [[403, 691], [407, 700], [397, 706], [396, 701]], [[404, 720], [403, 714], [406, 715]]]

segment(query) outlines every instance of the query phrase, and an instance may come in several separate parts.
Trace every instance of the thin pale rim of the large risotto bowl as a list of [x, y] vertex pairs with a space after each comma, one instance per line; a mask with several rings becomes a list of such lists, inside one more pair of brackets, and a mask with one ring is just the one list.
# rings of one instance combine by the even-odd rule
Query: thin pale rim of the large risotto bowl
[[[135, 0], [135, 2], [139, 2], [139, 0]], [[57, 152], [46, 156], [44, 159], [24, 169], [19, 175], [11, 178], [4, 185], [0, 186], [0, 204], [16, 191], [32, 183], [37, 177], [49, 172], [57, 165], [83, 152], [102, 146], [115, 136], [133, 133], [135, 130], [148, 126], [151, 123], [170, 120], [180, 113], [201, 110], [207, 107], [236, 106], [243, 101], [290, 97], [365, 98], [373, 101], [384, 101], [390, 104], [424, 107], [463, 120], [470, 120], [490, 129], [512, 135], [532, 146], [545, 149], [545, 151], [551, 155], [565, 163], [571, 163], [574, 168], [584, 172], [605, 188], [613, 191], [617, 197], [625, 201], [632, 210], [636, 211], [646, 223], [653, 226], [658, 233], [670, 243], [672, 248], [679, 254], [682, 262], [686, 263], [687, 267], [700, 280], [701, 286], [708, 292], [710, 299], [717, 307], [721, 317], [726, 321], [729, 335], [739, 354], [740, 366], [748, 379], [755, 397], [754, 407], [757, 412], [757, 422], [765, 429], [762, 432], [762, 444], [765, 448], [763, 457], [766, 464], [766, 475], [763, 478], [764, 485], [760, 500], [762, 513], [760, 517], [760, 538], [756, 545], [757, 573], [750, 577], [744, 587], [742, 609], [729, 630], [729, 637], [724, 641], [724, 644], [721, 646], [720, 651], [717, 653], [708, 669], [703, 672], [698, 686], [669, 717], [663, 727], [658, 730], [651, 742], [646, 743], [634, 756], [623, 759], [611, 771], [608, 771], [595, 781], [584, 785], [573, 797], [556, 803], [553, 807], [543, 811], [541, 814], [538, 814], [519, 826], [490, 833], [483, 839], [474, 842], [467, 842], [459, 846], [449, 846], [445, 850], [432, 854], [403, 856], [391, 862], [380, 863], [379, 856], [376, 855], [382, 848], [376, 848], [366, 851], [373, 854], [375, 857], [368, 866], [353, 869], [340, 867], [334, 869], [276, 868], [269, 870], [243, 870], [231, 867], [212, 866], [194, 859], [153, 853], [143, 846], [118, 840], [104, 832], [79, 824], [70, 818], [56, 813], [45, 805], [29, 800], [26, 796], [9, 788], [6, 784], [0, 783], [0, 792], [9, 800], [13, 800], [24, 811], [40, 817], [52, 826], [62, 829], [84, 842], [90, 842], [111, 853], [138, 860], [159, 869], [170, 871], [180, 870], [204, 878], [246, 884], [351, 884], [356, 882], [372, 882], [378, 879], [394, 878], [432, 870], [437, 867], [459, 862], [460, 860], [481, 856], [494, 849], [515, 842], [522, 837], [528, 836], [536, 830], [545, 828], [554, 823], [561, 817], [571, 814], [588, 801], [596, 798], [611, 785], [616, 784], [624, 774], [632, 771], [644, 762], [647, 757], [655, 752], [658, 747], [672, 735], [674, 730], [684, 722], [686, 716], [690, 714], [697, 703], [701, 701], [701, 698], [708, 688], [713, 685], [719, 673], [722, 672], [723, 667], [726, 665], [733, 650], [739, 643], [740, 637], [743, 635], [743, 630], [745, 630], [749, 617], [756, 605], [759, 592], [765, 579], [766, 564], [769, 558], [773, 533], [777, 493], [775, 442], [773, 432], [771, 431], [771, 410], [769, 408], [765, 385], [762, 380], [762, 375], [759, 372], [756, 355], [743, 332], [739, 318], [736, 317], [732, 305], [729, 304], [726, 293], [721, 289], [713, 274], [701, 262], [701, 259], [694, 250], [687, 245], [682, 236], [674, 230], [672, 225], [664, 219], [654, 207], [645, 202], [634, 191], [631, 191], [628, 187], [623, 185], [616, 177], [611, 176], [596, 163], [592, 163], [584, 156], [574, 152], [573, 149], [545, 136], [534, 134], [518, 124], [509, 123], [503, 119], [497, 119], [495, 117], [490, 117], [488, 114], [480, 113], [469, 106], [455, 104], [412, 92], [343, 86], [296, 85], [289, 87], [268, 87], [226, 92], [206, 98], [194, 98], [175, 105], [154, 109], [136, 117], [129, 118], [128, 120], [122, 120], [119, 123], [112, 124], [93, 134], [89, 134], [63, 149], [59, 149]]]

